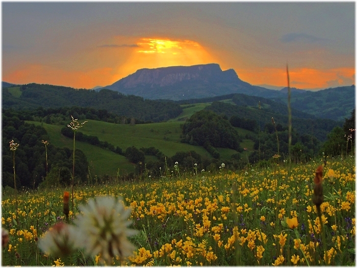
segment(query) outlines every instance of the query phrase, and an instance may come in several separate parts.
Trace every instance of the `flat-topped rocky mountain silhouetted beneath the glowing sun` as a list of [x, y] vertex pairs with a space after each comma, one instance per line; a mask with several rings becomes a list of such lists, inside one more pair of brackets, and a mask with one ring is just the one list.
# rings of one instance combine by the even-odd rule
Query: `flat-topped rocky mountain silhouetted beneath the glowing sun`
[[223, 71], [215, 63], [139, 69], [134, 74], [104, 88], [142, 96], [145, 99], [174, 101], [231, 93], [264, 98], [283, 96], [276, 90], [250, 85], [240, 80], [235, 70]]

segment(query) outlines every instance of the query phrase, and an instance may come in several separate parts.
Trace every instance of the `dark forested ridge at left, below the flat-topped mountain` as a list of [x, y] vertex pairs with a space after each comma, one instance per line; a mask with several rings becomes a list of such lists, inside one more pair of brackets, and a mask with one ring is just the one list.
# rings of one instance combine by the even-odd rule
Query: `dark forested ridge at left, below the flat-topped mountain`
[[15, 110], [60, 107], [92, 107], [119, 116], [155, 122], [174, 118], [182, 112], [179, 104], [144, 100], [139, 96], [123, 95], [112, 90], [96, 92], [44, 84], [26, 84], [2, 90], [3, 108]]

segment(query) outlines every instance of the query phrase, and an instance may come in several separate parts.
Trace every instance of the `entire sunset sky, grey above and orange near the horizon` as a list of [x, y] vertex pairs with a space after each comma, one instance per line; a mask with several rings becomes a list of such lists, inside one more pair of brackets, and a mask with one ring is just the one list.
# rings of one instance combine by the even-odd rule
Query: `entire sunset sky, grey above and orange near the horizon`
[[218, 63], [252, 85], [354, 84], [355, 3], [2, 2], [2, 81], [111, 85]]

